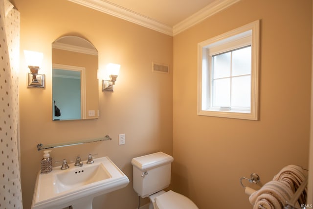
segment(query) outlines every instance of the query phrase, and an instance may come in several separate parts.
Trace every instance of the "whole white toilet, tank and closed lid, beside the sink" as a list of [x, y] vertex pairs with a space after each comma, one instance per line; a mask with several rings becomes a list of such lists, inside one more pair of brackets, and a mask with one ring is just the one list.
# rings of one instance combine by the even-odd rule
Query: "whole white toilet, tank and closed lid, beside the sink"
[[173, 160], [163, 152], [133, 158], [135, 192], [142, 198], [150, 198], [149, 209], [198, 209], [186, 196], [163, 190], [171, 183]]

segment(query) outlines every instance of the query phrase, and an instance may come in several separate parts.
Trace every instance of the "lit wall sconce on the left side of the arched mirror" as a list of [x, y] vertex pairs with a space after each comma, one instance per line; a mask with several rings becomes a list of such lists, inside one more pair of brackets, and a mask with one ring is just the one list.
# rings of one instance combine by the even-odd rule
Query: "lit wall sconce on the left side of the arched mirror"
[[37, 51], [24, 50], [24, 55], [30, 70], [30, 73], [27, 73], [27, 87], [45, 88], [45, 74], [38, 74], [44, 54]]

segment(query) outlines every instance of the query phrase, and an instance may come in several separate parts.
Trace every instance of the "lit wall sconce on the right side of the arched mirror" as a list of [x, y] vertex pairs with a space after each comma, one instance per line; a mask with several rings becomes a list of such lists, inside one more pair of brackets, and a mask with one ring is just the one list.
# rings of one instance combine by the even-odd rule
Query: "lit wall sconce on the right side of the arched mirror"
[[[106, 70], [99, 70], [98, 78], [102, 79], [102, 91], [113, 92], [113, 86], [119, 73], [121, 65], [109, 63]], [[108, 78], [108, 75], [110, 78]]]

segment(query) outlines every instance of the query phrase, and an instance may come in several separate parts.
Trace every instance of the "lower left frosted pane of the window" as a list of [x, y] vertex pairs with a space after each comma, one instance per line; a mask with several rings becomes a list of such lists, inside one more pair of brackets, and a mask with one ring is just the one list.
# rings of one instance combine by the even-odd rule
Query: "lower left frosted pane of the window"
[[213, 80], [213, 106], [230, 107], [230, 78]]

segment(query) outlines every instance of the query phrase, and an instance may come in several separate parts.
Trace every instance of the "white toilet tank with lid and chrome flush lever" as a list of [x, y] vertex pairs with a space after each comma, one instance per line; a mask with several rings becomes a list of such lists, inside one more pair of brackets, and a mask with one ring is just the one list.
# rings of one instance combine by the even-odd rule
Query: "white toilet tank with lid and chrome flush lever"
[[135, 192], [145, 198], [171, 183], [171, 163], [174, 158], [157, 152], [133, 158], [133, 180]]

